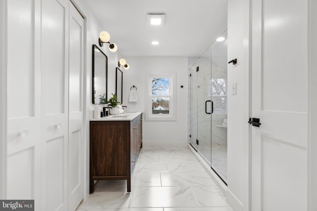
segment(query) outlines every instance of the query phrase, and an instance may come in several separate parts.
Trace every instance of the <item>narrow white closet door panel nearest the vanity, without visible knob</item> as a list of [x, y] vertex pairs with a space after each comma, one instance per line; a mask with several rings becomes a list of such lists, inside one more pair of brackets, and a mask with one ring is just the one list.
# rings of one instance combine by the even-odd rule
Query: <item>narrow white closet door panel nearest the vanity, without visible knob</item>
[[83, 200], [84, 19], [69, 6], [68, 211]]

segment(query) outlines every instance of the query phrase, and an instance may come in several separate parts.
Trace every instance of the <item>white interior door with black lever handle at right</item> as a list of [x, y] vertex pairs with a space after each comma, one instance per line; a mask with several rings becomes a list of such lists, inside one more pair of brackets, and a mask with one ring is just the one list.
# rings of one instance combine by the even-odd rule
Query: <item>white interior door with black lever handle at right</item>
[[252, 211], [305, 211], [307, 0], [252, 10]]

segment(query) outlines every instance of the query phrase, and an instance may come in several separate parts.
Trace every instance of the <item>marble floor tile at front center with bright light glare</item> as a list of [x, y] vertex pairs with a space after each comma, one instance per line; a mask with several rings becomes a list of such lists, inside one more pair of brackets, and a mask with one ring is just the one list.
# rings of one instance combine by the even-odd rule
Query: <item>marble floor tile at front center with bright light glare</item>
[[129, 208], [142, 207], [198, 207], [189, 186], [134, 187]]

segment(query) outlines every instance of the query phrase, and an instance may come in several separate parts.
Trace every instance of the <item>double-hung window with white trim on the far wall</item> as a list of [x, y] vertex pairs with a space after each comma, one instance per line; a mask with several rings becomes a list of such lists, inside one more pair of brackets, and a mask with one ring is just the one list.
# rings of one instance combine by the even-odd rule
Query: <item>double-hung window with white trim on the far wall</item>
[[148, 75], [147, 82], [149, 95], [146, 102], [147, 121], [174, 121], [176, 120], [173, 80], [175, 74]]

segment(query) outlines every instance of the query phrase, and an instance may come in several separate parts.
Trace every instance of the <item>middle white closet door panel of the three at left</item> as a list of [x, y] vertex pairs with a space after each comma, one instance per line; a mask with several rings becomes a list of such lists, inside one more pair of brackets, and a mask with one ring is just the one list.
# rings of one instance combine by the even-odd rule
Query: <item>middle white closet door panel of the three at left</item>
[[42, 209], [67, 210], [69, 0], [42, 0]]

